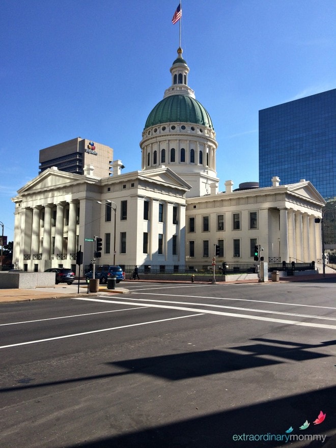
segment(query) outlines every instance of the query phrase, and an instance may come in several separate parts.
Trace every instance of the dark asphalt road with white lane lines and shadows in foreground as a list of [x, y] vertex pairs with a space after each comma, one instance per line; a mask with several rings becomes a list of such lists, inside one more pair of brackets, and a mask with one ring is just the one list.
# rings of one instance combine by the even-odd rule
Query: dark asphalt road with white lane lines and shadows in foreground
[[123, 286], [0, 305], [1, 448], [315, 448], [335, 433], [334, 282]]

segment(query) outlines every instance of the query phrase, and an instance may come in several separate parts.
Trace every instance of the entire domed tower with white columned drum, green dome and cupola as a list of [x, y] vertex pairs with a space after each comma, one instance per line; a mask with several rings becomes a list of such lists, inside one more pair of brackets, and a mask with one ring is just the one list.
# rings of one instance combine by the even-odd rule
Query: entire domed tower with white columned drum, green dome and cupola
[[191, 189], [187, 197], [217, 191], [216, 133], [207, 109], [187, 85], [182, 49], [170, 69], [172, 85], [151, 110], [140, 142], [142, 170], [169, 166]]

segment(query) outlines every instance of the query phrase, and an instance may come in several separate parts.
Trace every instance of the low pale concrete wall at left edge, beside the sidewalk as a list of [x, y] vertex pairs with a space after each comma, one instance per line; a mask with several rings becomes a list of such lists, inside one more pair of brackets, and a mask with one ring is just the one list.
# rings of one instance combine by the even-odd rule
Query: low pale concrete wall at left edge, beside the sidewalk
[[52, 288], [54, 272], [0, 272], [1, 289]]

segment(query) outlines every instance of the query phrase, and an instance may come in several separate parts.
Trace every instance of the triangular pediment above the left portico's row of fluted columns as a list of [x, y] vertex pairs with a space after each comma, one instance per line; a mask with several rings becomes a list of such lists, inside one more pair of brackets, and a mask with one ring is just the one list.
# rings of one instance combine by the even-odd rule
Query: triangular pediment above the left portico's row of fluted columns
[[66, 185], [73, 186], [76, 183], [85, 181], [83, 176], [78, 174], [66, 173], [64, 171], [46, 170], [37, 177], [27, 182], [18, 190], [18, 194], [26, 194], [30, 191], [45, 191], [48, 189], [64, 188]]

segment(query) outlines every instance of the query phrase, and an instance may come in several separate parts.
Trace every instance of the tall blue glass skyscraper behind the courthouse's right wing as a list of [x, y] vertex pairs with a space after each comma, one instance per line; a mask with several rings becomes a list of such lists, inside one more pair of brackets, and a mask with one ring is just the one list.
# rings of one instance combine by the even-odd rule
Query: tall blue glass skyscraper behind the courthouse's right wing
[[259, 183], [309, 180], [336, 197], [336, 89], [259, 111]]

